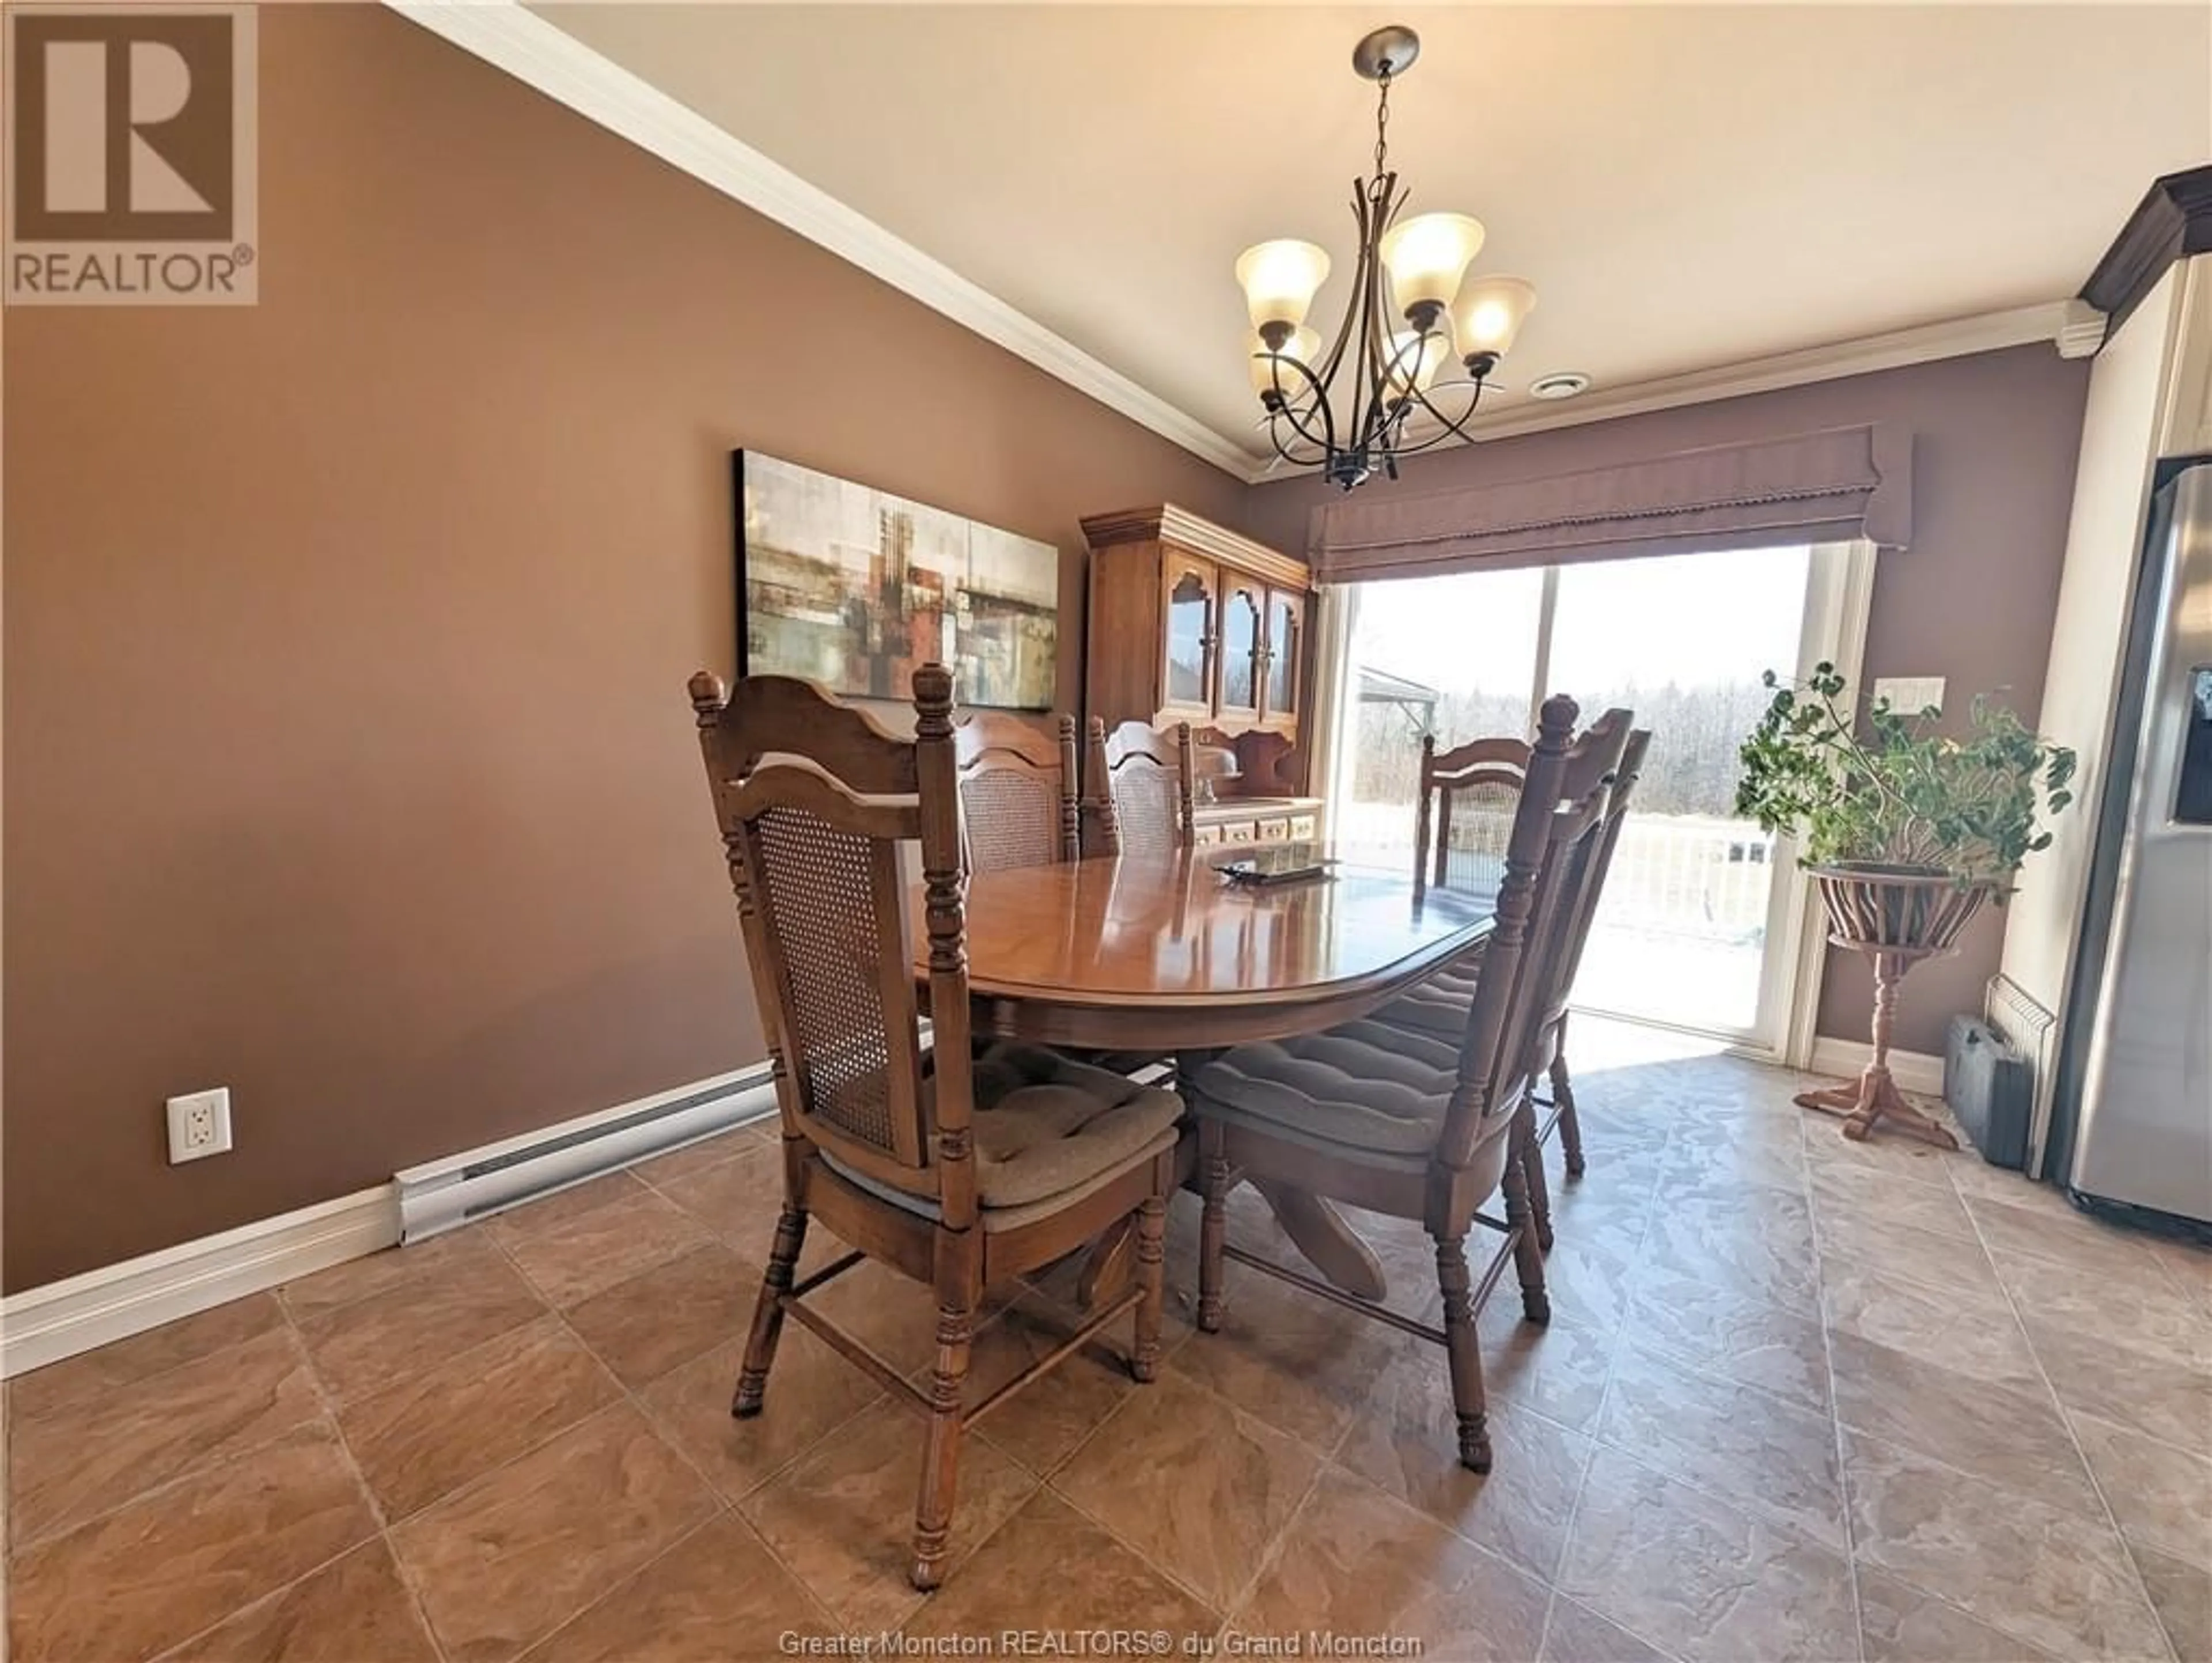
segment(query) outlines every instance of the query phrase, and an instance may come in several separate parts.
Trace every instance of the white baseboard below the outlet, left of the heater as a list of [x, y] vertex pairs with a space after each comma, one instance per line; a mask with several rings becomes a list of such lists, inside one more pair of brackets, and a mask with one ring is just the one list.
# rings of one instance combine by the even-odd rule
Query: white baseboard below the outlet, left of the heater
[[380, 1183], [11, 1294], [0, 1300], [0, 1376], [44, 1369], [77, 1351], [374, 1254], [398, 1238], [398, 1203], [392, 1185]]

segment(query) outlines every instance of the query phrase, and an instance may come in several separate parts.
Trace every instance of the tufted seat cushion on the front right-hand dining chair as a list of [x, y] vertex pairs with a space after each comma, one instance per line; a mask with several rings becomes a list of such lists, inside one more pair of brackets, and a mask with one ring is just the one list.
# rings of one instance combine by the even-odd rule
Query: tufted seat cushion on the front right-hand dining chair
[[1347, 1022], [1237, 1046], [1199, 1068], [1192, 1108], [1281, 1126], [1349, 1152], [1425, 1159], [1444, 1130], [1460, 1053], [1407, 1028]]

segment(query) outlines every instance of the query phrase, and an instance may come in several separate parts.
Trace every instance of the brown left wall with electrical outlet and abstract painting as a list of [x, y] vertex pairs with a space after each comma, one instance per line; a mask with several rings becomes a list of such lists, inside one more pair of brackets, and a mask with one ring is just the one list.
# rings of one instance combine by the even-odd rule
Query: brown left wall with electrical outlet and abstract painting
[[263, 7], [261, 232], [7, 318], [9, 1289], [759, 1057], [730, 447], [1057, 542], [1064, 701], [1077, 515], [1243, 500], [383, 9]]

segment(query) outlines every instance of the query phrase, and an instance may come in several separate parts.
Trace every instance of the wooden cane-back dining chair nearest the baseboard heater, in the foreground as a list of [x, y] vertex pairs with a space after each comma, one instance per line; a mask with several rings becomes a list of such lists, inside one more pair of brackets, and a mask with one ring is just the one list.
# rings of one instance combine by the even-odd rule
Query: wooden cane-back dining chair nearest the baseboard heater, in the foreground
[[[914, 672], [914, 739], [787, 677], [748, 677], [723, 692], [699, 672], [690, 699], [783, 1126], [783, 1207], [730, 1413], [761, 1413], [787, 1316], [920, 1409], [927, 1433], [909, 1579], [936, 1588], [969, 1426], [1121, 1316], [1135, 1318], [1130, 1373], [1157, 1373], [1161, 1243], [1183, 1106], [1042, 1046], [971, 1053], [962, 798], [945, 666]], [[911, 843], [920, 845], [916, 911], [936, 1019], [927, 1048], [900, 862]], [[1135, 1287], [969, 1406], [984, 1287], [1130, 1219]], [[794, 1283], [814, 1221], [856, 1247]], [[931, 1289], [938, 1345], [925, 1387], [807, 1300], [863, 1258]]]

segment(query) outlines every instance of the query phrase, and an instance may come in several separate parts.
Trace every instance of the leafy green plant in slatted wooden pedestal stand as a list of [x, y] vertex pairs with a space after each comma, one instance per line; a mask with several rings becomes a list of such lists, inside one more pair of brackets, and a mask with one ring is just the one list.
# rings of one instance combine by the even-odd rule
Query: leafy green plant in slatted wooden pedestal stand
[[1796, 1101], [1843, 1115], [1845, 1137], [1887, 1119], [1958, 1148], [1889, 1077], [1898, 982], [1955, 951], [1984, 900], [2004, 904], [2022, 860], [2051, 843], [2044, 820], [2073, 801], [2075, 754], [1982, 694], [1955, 739], [1938, 732], [1936, 705], [1907, 714], [1878, 699], [1860, 723], [1834, 663], [1805, 683], [1767, 670], [1765, 686], [1774, 699], [1739, 752], [1736, 814], [1796, 840], [1829, 940], [1874, 962], [1874, 1059], [1856, 1084]]

